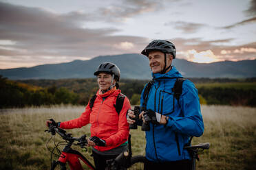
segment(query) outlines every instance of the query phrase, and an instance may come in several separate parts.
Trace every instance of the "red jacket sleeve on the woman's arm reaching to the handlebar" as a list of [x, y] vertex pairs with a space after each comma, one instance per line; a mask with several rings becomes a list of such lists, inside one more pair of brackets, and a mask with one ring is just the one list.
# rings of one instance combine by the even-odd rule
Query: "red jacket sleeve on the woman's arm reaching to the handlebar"
[[90, 113], [91, 113], [91, 108], [89, 107], [89, 103], [88, 103], [85, 108], [85, 112], [83, 112], [80, 117], [70, 121], [61, 122], [60, 127], [63, 129], [81, 128], [89, 123]]

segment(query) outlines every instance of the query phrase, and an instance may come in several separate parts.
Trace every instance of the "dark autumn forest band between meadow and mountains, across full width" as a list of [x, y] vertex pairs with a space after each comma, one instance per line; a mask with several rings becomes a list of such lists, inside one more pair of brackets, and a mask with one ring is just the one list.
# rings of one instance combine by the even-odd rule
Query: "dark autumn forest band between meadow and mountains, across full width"
[[[256, 78], [248, 79], [189, 79], [197, 86], [201, 104], [256, 106]], [[140, 104], [140, 93], [149, 80], [121, 80], [122, 93], [127, 95], [132, 105]], [[209, 86], [213, 82], [241, 83], [244, 88], [233, 86]], [[96, 79], [63, 80], [19, 80], [12, 81], [0, 75], [0, 108], [72, 104], [86, 106], [98, 90]]]

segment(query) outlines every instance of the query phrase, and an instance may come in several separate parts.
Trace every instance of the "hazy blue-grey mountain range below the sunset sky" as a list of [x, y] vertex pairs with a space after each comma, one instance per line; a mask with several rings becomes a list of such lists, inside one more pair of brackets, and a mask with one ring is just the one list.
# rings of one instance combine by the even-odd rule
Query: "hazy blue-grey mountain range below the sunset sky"
[[[0, 75], [8, 77], [10, 80], [89, 78], [94, 77], [94, 71], [102, 62], [117, 64], [121, 71], [121, 78], [151, 79], [148, 60], [145, 56], [138, 53], [98, 56], [91, 60], [74, 60], [72, 62], [43, 64], [28, 68], [0, 69]], [[173, 60], [173, 65], [184, 77], [256, 77], [256, 60], [224, 61], [206, 64], [176, 58]]]

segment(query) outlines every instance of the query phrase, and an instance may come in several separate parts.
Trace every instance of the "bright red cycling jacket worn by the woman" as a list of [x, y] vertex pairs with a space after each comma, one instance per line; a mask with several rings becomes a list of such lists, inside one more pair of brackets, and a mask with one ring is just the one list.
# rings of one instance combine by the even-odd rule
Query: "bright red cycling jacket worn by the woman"
[[81, 117], [61, 122], [60, 127], [63, 129], [81, 128], [91, 123], [91, 136], [97, 136], [106, 141], [105, 147], [94, 147], [98, 151], [113, 149], [125, 143], [129, 136], [126, 113], [127, 110], [131, 109], [131, 106], [129, 99], [125, 97], [122, 110], [118, 115], [114, 105], [116, 105], [116, 98], [120, 92], [121, 90], [115, 87], [100, 95], [98, 90], [92, 111], [88, 103]]

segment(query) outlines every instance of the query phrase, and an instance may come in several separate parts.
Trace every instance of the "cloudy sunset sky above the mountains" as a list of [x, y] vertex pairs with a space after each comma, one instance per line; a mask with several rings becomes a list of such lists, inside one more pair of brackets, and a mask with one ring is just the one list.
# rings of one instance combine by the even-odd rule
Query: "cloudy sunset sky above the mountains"
[[256, 0], [0, 0], [0, 69], [140, 53], [170, 40], [193, 62], [256, 59]]

